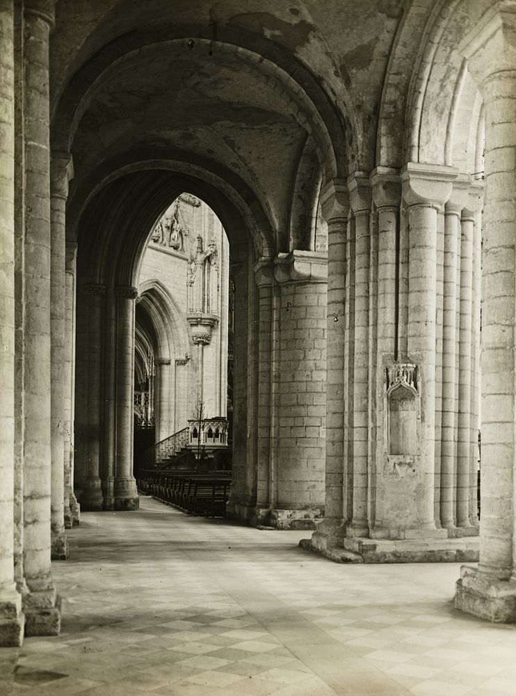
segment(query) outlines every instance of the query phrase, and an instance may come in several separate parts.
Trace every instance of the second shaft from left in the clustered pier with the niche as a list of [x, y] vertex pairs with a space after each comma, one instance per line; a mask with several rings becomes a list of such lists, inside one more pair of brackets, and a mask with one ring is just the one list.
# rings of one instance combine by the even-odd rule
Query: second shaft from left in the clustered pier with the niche
[[353, 369], [353, 519], [348, 537], [369, 537], [369, 219], [371, 182], [363, 173], [348, 179], [355, 216], [355, 358]]

